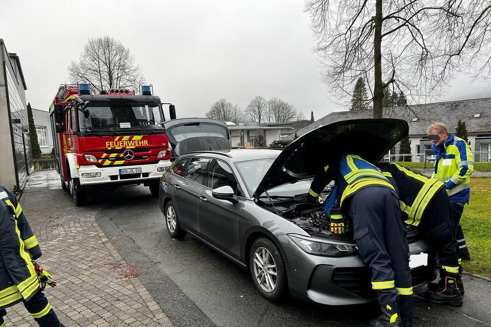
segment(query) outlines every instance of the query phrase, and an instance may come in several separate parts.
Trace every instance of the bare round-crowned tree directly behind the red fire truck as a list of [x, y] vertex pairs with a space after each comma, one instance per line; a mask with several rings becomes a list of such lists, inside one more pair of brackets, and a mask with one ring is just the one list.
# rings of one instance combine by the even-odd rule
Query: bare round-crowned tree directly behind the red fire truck
[[89, 39], [77, 61], [68, 66], [72, 82], [90, 82], [95, 91], [112, 88], [136, 90], [144, 82], [131, 51], [110, 36]]

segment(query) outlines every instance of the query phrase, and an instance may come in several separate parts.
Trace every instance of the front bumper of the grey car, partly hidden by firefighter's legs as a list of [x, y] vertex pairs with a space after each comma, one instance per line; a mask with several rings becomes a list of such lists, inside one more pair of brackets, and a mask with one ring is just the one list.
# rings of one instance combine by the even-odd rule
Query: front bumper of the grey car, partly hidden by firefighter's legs
[[[359, 255], [324, 257], [307, 254], [287, 235], [277, 236], [286, 255], [290, 292], [296, 298], [325, 305], [351, 305], [376, 300], [371, 289], [371, 271]], [[424, 241], [412, 242], [410, 254], [428, 252]], [[411, 270], [413, 286], [421, 286], [435, 278], [434, 255], [428, 266]]]

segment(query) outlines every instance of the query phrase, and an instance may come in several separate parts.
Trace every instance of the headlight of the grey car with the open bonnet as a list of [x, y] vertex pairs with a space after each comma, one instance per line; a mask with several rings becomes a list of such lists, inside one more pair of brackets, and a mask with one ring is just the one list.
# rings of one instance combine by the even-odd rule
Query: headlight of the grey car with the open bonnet
[[313, 238], [298, 234], [288, 234], [288, 237], [308, 254], [325, 257], [345, 257], [358, 252], [354, 244]]

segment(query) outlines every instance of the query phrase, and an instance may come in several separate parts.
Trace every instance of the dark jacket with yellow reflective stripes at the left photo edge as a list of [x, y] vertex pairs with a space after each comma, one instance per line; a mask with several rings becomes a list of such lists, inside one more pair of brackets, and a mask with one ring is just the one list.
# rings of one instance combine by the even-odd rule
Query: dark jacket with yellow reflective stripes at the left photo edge
[[0, 310], [29, 300], [40, 289], [32, 260], [41, 255], [20, 204], [0, 186]]

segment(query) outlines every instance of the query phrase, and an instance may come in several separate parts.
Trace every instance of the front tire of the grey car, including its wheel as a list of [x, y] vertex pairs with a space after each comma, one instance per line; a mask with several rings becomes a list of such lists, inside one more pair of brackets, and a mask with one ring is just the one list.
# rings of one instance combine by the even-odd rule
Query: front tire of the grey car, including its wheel
[[258, 238], [249, 252], [249, 271], [259, 294], [280, 302], [288, 292], [285, 264], [278, 247], [267, 238]]

